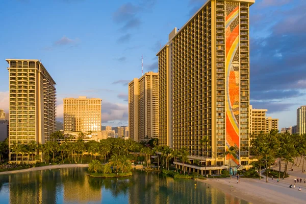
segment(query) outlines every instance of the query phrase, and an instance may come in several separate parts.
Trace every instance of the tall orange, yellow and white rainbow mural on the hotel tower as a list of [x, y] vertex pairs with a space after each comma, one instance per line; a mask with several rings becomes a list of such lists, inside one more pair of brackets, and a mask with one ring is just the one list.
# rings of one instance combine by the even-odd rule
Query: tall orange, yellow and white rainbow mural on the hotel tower
[[239, 164], [239, 3], [225, 4], [225, 78], [226, 78], [226, 150], [236, 148], [236, 157], [226, 157]]

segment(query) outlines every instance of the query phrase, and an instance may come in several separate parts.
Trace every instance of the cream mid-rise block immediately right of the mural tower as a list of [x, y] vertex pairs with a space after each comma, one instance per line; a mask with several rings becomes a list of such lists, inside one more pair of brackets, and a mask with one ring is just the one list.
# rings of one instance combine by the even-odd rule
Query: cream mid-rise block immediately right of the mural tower
[[258, 135], [267, 132], [266, 113], [267, 109], [254, 109], [249, 106], [250, 134]]

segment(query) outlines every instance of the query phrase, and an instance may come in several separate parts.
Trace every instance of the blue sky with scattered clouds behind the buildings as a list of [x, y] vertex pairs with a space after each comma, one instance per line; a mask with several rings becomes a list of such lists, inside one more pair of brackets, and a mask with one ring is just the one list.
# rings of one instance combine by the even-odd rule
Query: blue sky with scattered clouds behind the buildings
[[[11, 0], [0, 3], [0, 108], [8, 109], [6, 58], [41, 59], [65, 97], [103, 100], [104, 125], [127, 125], [127, 82], [157, 72], [156, 53], [205, 0]], [[251, 104], [280, 128], [306, 104], [306, 3], [258, 0], [250, 8]]]

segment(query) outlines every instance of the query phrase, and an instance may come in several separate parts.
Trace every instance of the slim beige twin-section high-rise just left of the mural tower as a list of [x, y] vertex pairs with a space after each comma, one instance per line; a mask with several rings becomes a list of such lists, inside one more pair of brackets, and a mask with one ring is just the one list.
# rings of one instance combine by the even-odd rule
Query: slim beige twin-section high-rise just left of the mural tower
[[147, 72], [129, 83], [129, 134], [136, 142], [159, 135], [158, 73]]

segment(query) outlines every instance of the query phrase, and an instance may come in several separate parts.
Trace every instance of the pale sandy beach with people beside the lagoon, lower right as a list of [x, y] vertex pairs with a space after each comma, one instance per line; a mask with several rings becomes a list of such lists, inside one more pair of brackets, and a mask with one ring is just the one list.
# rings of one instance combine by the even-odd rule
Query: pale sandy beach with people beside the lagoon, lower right
[[[278, 167], [272, 169], [278, 170]], [[237, 184], [236, 176], [230, 178], [209, 178], [207, 180], [197, 180], [197, 182], [207, 183], [222, 190], [226, 194], [231, 194], [250, 203], [306, 203], [306, 184], [296, 183], [295, 189], [289, 188], [294, 184], [294, 178], [306, 179], [306, 173], [301, 173], [301, 167], [293, 167], [294, 171], [288, 171], [290, 176], [284, 180], [281, 178], [277, 184], [277, 178], [273, 180], [266, 177], [261, 180], [254, 178], [240, 178]], [[301, 191], [298, 191], [298, 188]]]

